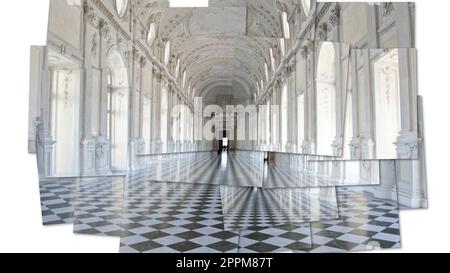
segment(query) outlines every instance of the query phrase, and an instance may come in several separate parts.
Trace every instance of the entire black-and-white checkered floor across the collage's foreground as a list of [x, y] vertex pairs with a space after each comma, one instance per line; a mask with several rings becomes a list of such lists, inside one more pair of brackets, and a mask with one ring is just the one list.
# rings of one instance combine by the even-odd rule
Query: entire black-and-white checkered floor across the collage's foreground
[[373, 186], [339, 187], [337, 196], [333, 187], [306, 194], [308, 189], [255, 190], [208, 184], [206, 179], [157, 182], [148, 179], [152, 171], [122, 178], [43, 180], [43, 222], [74, 223], [78, 234], [120, 236], [122, 253], [340, 252], [400, 246], [397, 203], [364, 192]]

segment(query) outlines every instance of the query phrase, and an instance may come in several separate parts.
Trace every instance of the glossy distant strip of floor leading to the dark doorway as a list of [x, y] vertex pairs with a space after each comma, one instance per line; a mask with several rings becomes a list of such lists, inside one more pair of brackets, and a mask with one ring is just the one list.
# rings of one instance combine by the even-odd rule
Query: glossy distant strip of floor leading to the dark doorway
[[[311, 188], [379, 183], [378, 180], [363, 181], [318, 175], [315, 170], [308, 172], [300, 168], [300, 164], [298, 168], [294, 168], [289, 164], [267, 161], [265, 156], [264, 152], [232, 150], [221, 154], [197, 152], [143, 158], [149, 161], [146, 179], [151, 181], [260, 188]], [[289, 161], [290, 155], [276, 154], [276, 157]]]

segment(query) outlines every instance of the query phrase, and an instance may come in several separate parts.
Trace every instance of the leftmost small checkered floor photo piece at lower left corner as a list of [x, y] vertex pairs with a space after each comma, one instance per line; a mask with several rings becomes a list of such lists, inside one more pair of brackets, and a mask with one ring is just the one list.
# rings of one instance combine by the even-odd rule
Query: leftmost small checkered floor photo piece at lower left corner
[[73, 223], [76, 185], [76, 179], [42, 179], [39, 181], [44, 225]]

